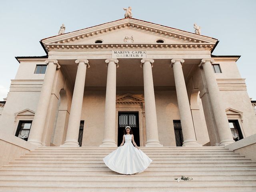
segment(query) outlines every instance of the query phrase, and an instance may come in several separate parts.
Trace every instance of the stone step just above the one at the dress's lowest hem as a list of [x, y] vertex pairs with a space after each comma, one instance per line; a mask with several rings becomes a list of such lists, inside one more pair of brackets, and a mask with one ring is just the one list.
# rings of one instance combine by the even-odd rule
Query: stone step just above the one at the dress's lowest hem
[[[70, 171], [109, 171], [110, 169], [107, 166], [72, 166], [72, 167], [56, 167], [56, 166], [2, 166], [2, 170], [70, 170]], [[182, 167], [182, 166], [149, 166], [147, 171], [211, 171], [211, 170], [253, 170], [256, 172], [256, 166], [194, 166], [194, 167]]]

